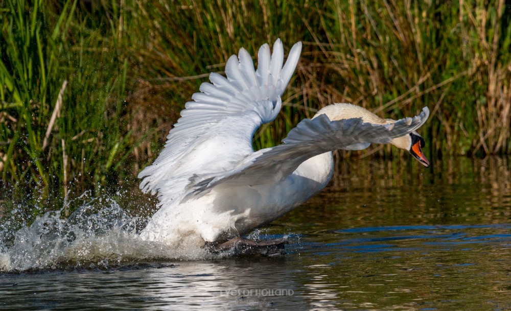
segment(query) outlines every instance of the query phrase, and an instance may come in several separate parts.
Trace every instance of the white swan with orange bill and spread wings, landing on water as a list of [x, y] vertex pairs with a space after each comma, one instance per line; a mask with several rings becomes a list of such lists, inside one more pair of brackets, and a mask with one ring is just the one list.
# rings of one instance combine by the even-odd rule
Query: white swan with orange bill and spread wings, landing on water
[[427, 107], [413, 118], [395, 121], [351, 104], [329, 105], [301, 121], [282, 145], [254, 152], [252, 136], [281, 110], [281, 95], [300, 51], [297, 42], [284, 63], [280, 39], [271, 54], [264, 44], [255, 70], [242, 48], [238, 57], [228, 59], [226, 77], [212, 73], [211, 83], [201, 84], [164, 149], [138, 174], [143, 192], [159, 199], [159, 210], [141, 232], [144, 240], [200, 247], [240, 241], [254, 245], [243, 236], [327, 186], [337, 149], [391, 143], [429, 166], [421, 149], [424, 139], [415, 131], [426, 122]]

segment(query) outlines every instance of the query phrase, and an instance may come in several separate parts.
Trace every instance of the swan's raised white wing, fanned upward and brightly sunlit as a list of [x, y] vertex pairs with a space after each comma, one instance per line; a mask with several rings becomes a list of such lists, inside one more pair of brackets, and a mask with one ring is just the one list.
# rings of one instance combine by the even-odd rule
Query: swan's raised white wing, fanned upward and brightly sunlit
[[165, 148], [138, 178], [144, 192], [159, 193], [167, 203], [184, 192], [197, 173], [226, 172], [253, 152], [252, 136], [263, 123], [273, 121], [300, 56], [301, 43], [292, 47], [286, 63], [277, 39], [259, 49], [258, 69], [245, 49], [225, 66], [226, 78], [212, 73], [167, 136]]

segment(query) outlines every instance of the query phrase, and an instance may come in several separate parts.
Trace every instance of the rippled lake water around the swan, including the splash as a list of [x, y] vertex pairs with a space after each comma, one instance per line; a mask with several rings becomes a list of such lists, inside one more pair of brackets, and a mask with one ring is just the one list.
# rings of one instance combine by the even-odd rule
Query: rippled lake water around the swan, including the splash
[[511, 309], [509, 159], [337, 168], [325, 192], [259, 232], [291, 236], [282, 256], [183, 260], [107, 216], [83, 240], [49, 218], [4, 247], [0, 309]]

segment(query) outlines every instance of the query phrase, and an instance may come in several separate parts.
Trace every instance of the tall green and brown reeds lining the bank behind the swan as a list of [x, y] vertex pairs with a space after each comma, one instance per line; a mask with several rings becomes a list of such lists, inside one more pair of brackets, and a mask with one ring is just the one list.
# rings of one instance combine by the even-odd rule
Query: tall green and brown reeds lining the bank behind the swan
[[[304, 49], [255, 148], [351, 102], [393, 118], [428, 106], [429, 157], [510, 154], [510, 21], [504, 0], [0, 0], [0, 200], [136, 182], [208, 73], [276, 38]], [[401, 154], [354, 155], [369, 153]]]

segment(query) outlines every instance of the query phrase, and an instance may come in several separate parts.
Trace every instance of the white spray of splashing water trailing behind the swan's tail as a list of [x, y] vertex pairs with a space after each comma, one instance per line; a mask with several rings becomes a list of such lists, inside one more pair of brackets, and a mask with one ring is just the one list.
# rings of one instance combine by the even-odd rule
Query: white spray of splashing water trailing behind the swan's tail
[[62, 210], [46, 212], [32, 225], [21, 227], [11, 242], [5, 237], [12, 233], [6, 227], [0, 229], [4, 237], [0, 241], [0, 272], [108, 269], [144, 261], [218, 256], [198, 247], [142, 240], [136, 231], [144, 220], [128, 216], [107, 196], [82, 204], [67, 219]]

